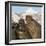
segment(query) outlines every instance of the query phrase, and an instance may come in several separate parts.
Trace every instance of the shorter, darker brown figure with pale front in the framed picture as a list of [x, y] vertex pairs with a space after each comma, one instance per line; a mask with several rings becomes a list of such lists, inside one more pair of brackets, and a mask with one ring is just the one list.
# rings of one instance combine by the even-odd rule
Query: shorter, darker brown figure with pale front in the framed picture
[[17, 36], [16, 39], [31, 39], [32, 38], [23, 19], [20, 19], [19, 27], [17, 31], [15, 32]]

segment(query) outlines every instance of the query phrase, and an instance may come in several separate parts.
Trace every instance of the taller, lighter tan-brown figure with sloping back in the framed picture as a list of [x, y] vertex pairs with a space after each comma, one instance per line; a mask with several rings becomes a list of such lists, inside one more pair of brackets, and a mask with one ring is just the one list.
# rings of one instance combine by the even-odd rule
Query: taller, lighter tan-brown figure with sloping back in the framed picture
[[32, 38], [41, 38], [41, 25], [37, 23], [31, 16], [26, 16], [26, 27], [29, 29]]

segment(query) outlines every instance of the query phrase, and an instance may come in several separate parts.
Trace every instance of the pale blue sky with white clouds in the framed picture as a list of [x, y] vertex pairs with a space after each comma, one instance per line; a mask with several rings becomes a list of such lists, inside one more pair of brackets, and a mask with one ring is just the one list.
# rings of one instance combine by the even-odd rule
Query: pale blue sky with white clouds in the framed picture
[[12, 13], [25, 13], [25, 12], [41, 12], [41, 7], [25, 7], [25, 6], [12, 6]]

